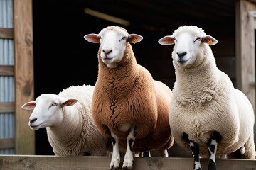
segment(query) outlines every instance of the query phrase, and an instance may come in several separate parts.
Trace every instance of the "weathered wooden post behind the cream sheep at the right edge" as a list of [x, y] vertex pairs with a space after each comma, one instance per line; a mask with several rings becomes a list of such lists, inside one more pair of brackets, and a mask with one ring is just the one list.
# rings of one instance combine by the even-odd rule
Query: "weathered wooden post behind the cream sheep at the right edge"
[[236, 77], [237, 88], [245, 93], [255, 111], [255, 17], [249, 11], [256, 11], [252, 1], [236, 3]]

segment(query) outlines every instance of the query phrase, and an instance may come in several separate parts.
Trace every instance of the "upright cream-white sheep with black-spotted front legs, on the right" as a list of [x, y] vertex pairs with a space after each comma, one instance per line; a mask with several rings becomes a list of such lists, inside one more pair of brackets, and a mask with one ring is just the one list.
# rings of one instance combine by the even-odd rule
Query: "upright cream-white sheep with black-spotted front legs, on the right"
[[192, 150], [195, 169], [201, 169], [199, 155], [210, 157], [209, 169], [214, 169], [215, 157], [240, 152], [243, 158], [255, 158], [254, 111], [245, 94], [216, 67], [209, 45], [217, 42], [197, 26], [181, 26], [159, 40], [161, 45], [174, 44], [176, 82], [169, 122], [178, 145]]

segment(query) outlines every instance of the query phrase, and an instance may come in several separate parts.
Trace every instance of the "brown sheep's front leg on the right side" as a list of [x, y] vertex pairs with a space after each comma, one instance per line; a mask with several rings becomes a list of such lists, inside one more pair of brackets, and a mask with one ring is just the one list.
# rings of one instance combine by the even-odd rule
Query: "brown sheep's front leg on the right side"
[[134, 137], [134, 127], [129, 132], [127, 136], [127, 151], [124, 155], [124, 162], [123, 162], [123, 169], [132, 169], [132, 162], [133, 162], [133, 154], [132, 154], [132, 147], [134, 145], [135, 137]]

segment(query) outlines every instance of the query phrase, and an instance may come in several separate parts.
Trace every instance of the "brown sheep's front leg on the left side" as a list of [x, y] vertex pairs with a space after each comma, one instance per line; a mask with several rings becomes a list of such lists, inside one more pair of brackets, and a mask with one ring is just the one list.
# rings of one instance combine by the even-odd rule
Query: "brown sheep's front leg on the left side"
[[111, 132], [111, 141], [113, 145], [113, 153], [110, 169], [118, 169], [120, 164], [119, 139], [113, 132]]

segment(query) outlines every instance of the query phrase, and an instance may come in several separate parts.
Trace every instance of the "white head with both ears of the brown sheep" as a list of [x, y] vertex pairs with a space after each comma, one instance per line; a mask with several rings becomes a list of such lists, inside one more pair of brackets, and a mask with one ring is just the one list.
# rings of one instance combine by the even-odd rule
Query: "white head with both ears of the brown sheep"
[[137, 43], [143, 39], [141, 35], [129, 34], [119, 26], [103, 28], [99, 34], [88, 34], [84, 38], [92, 43], [100, 43], [101, 60], [109, 68], [117, 67], [122, 61], [127, 42]]

